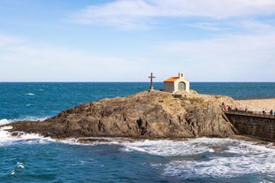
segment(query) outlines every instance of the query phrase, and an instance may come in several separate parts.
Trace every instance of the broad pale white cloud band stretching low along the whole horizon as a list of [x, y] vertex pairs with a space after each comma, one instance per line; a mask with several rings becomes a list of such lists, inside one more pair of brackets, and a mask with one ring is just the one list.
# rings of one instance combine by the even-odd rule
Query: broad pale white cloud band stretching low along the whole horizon
[[149, 57], [130, 58], [8, 40], [0, 46], [0, 81], [141, 81], [149, 72], [160, 81], [178, 72], [191, 81], [274, 80], [273, 32], [166, 42]]

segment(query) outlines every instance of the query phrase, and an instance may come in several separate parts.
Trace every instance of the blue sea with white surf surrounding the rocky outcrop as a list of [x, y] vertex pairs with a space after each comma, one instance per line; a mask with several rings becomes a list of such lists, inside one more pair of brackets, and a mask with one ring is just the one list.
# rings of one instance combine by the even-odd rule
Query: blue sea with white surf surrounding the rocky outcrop
[[[191, 82], [200, 94], [275, 98], [275, 82]], [[155, 82], [155, 89], [163, 83]], [[0, 82], [0, 125], [44, 120], [75, 105], [134, 95], [148, 82]], [[39, 123], [39, 122], [38, 122]], [[229, 138], [80, 143], [36, 133], [11, 136], [0, 127], [0, 182], [275, 182], [271, 143]]]

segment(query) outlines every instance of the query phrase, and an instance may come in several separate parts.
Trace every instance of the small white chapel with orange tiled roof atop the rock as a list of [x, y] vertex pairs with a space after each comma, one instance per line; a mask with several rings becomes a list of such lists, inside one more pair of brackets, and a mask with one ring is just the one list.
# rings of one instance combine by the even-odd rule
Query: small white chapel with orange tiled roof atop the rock
[[175, 94], [180, 91], [190, 92], [190, 82], [184, 78], [183, 72], [179, 73], [179, 77], [171, 77], [164, 80], [164, 92]]

